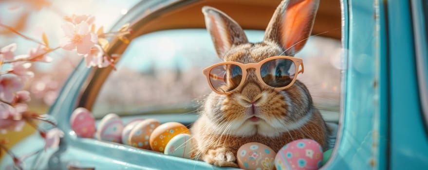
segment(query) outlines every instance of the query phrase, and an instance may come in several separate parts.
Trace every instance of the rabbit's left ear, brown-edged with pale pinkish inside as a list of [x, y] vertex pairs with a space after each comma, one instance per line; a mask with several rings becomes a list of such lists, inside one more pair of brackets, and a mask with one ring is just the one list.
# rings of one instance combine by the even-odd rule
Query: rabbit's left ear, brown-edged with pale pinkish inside
[[221, 59], [232, 46], [248, 43], [241, 26], [232, 18], [209, 6], [204, 6], [202, 12], [205, 16], [206, 29], [211, 34], [217, 54]]

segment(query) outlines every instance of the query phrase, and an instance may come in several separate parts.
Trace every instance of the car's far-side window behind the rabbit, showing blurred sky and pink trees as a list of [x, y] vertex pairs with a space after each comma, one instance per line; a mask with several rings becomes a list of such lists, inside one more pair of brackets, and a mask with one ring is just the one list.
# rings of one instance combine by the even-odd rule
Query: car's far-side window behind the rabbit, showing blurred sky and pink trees
[[[246, 31], [260, 42], [264, 31]], [[316, 36], [296, 54], [304, 59], [298, 80], [312, 93], [316, 107], [337, 119], [340, 96], [340, 41]], [[205, 29], [159, 31], [130, 43], [93, 105], [97, 118], [108, 113], [138, 115], [190, 112], [211, 92], [202, 70], [221, 62]]]

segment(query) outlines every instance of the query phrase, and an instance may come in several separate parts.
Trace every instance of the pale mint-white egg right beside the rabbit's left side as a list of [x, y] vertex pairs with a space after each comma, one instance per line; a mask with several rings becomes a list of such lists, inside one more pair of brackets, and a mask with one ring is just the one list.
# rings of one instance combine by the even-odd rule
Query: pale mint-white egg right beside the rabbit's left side
[[192, 152], [194, 143], [189, 134], [178, 134], [169, 140], [165, 146], [164, 153], [167, 155], [192, 159], [195, 153]]

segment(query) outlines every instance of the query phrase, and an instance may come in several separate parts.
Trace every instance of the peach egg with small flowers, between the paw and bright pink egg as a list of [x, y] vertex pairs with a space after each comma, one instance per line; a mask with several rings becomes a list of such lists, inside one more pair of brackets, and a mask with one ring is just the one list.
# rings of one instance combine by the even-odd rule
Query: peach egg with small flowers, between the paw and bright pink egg
[[268, 146], [250, 142], [238, 149], [236, 159], [239, 168], [245, 170], [273, 170], [275, 155], [275, 151]]

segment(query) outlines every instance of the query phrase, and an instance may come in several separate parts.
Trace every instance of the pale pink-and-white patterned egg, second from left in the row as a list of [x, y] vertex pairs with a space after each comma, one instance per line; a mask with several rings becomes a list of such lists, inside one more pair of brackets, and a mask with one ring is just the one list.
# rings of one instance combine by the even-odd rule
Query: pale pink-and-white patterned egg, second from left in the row
[[95, 138], [111, 142], [121, 143], [123, 123], [122, 119], [114, 113], [104, 116], [98, 124]]

